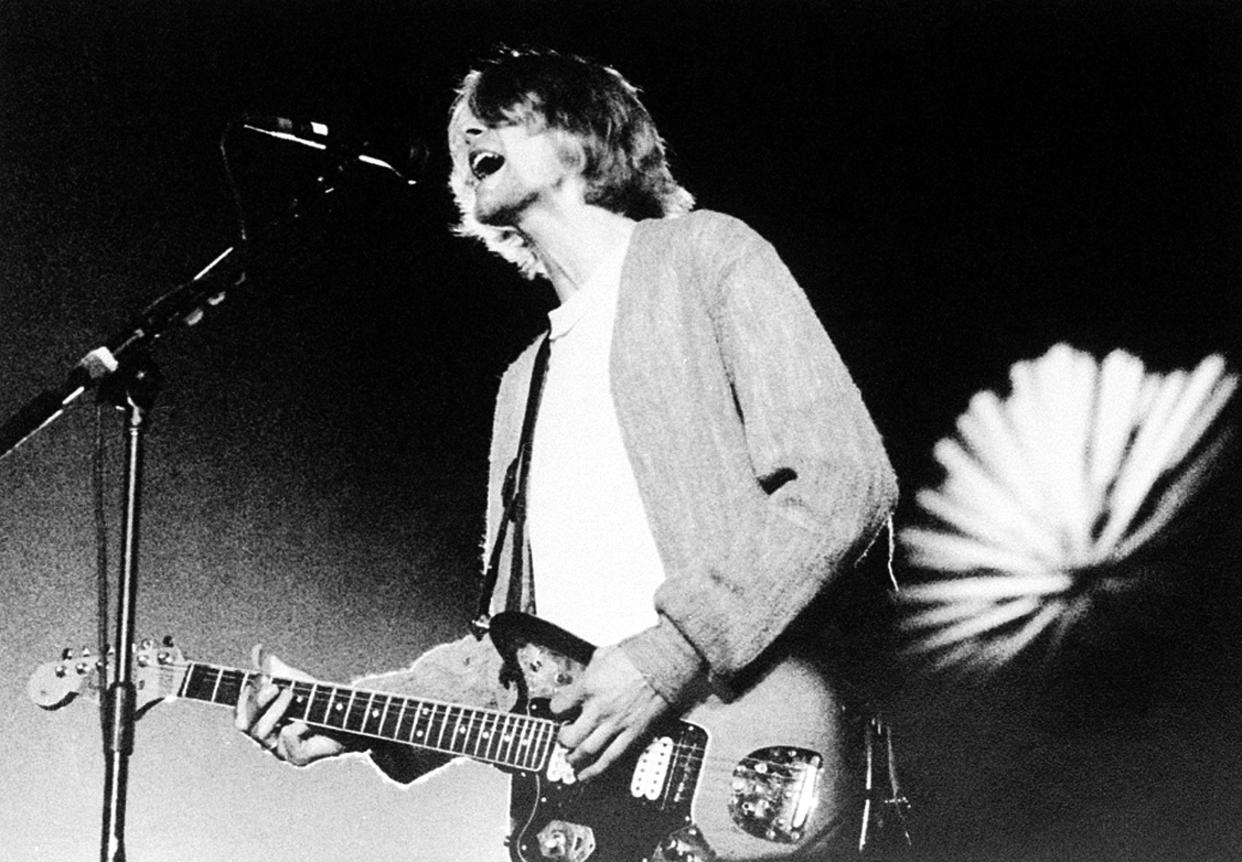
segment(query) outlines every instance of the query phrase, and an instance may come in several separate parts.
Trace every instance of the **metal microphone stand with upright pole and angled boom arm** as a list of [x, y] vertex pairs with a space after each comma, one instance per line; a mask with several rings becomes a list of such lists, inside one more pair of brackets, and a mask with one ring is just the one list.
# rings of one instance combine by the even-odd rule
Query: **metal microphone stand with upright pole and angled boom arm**
[[[261, 130], [261, 129], [260, 129]], [[298, 142], [303, 143], [303, 142]], [[330, 148], [332, 149], [332, 148]], [[381, 166], [402, 179], [407, 179], [386, 161], [363, 158], [347, 148], [334, 148], [330, 165], [315, 178], [315, 201], [332, 199], [332, 179], [343, 174], [348, 165], [361, 161]], [[301, 220], [306, 209], [294, 196], [283, 220], [277, 226], [287, 226]], [[125, 861], [125, 799], [129, 780], [129, 756], [134, 749], [134, 722], [137, 691], [133, 683], [133, 648], [135, 637], [135, 611], [138, 599], [138, 538], [142, 515], [142, 478], [145, 433], [149, 414], [161, 385], [161, 375], [150, 358], [150, 347], [168, 329], [179, 323], [194, 324], [212, 306], [225, 298], [225, 289], [216, 283], [216, 271], [233, 271], [232, 286], [246, 281], [245, 268], [238, 263], [242, 255], [236, 247], [225, 248], [189, 282], [174, 287], [130, 323], [109, 338], [103, 345], [87, 353], [60, 386], [35, 396], [7, 421], [0, 425], [0, 460], [10, 455], [22, 442], [61, 416], [88, 389], [98, 388], [101, 401], [116, 405], [125, 412], [124, 420], [124, 496], [122, 512], [122, 558], [117, 600], [114, 678], [107, 686], [104, 709], [104, 790], [103, 828], [101, 836], [101, 861]], [[225, 265], [230, 266], [225, 266]], [[106, 655], [101, 661], [107, 661]], [[104, 666], [104, 679], [107, 669]]]

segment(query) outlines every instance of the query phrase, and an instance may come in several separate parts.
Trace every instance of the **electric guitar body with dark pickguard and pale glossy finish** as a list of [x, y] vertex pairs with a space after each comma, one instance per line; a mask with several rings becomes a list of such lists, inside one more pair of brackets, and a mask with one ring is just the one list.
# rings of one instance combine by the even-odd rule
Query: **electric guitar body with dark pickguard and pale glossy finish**
[[[592, 647], [502, 614], [492, 638], [518, 676], [517, 710], [548, 715]], [[786, 658], [729, 702], [705, 696], [646, 748], [579, 784], [555, 765], [517, 773], [514, 862], [729, 862], [810, 857], [857, 826], [842, 704], [822, 671]]]

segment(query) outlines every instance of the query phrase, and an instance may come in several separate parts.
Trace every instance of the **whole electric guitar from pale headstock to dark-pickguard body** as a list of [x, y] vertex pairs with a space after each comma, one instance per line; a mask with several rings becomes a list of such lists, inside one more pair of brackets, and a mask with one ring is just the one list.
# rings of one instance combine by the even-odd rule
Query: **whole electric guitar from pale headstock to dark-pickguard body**
[[[732, 862], [804, 858], [852, 823], [841, 704], [821, 672], [796, 658], [768, 669], [741, 696], [702, 698], [656, 728], [591, 781], [578, 783], [548, 710], [592, 647], [535, 617], [501, 614], [493, 645], [517, 669], [512, 712], [323, 682], [276, 678], [293, 689], [291, 719], [492, 764], [512, 776], [513, 862]], [[101, 668], [103, 671], [101, 672]], [[40, 666], [30, 696], [56, 709], [98, 696], [106, 662]], [[142, 714], [164, 699], [235, 705], [257, 671], [188, 661], [170, 641], [134, 646]]]

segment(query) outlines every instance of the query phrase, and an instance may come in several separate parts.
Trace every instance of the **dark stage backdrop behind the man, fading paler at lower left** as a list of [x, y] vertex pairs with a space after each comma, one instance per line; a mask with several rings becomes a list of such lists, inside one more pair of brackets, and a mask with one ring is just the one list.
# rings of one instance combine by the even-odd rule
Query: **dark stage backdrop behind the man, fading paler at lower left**
[[[431, 149], [417, 188], [342, 183], [250, 289], [156, 352], [139, 626], [233, 665], [262, 640], [335, 679], [457, 632], [491, 397], [549, 297], [450, 236], [442, 128], [476, 56], [532, 42], [617, 66], [700, 206], [776, 243], [913, 518], [933, 443], [1017, 360], [1067, 342], [1153, 370], [1237, 366], [1240, 37], [1223, 1], [7, 0], [0, 414], [235, 242], [230, 120], [412, 129]], [[315, 170], [245, 133], [230, 153], [256, 219]], [[97, 852], [93, 712], [43, 714], [24, 692], [94, 638], [93, 433], [83, 406], [0, 462], [15, 860]], [[1202, 507], [1165, 558], [1177, 589], [1100, 609], [1061, 661], [902, 679], [924, 856], [1236, 857], [1237, 507]], [[134, 860], [503, 858], [486, 770], [406, 792], [360, 763], [294, 773], [184, 705], [143, 720], [133, 771]]]

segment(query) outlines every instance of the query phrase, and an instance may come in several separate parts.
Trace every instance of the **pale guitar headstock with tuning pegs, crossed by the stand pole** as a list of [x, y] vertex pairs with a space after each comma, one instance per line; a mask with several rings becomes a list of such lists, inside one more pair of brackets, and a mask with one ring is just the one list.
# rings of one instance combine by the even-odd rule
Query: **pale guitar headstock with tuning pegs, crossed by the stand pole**
[[[161, 643], [147, 638], [133, 646], [133, 681], [139, 712], [169, 697], [175, 697], [185, 678], [188, 663], [181, 650], [165, 637]], [[116, 656], [99, 657], [89, 648], [75, 653], [66, 650], [60, 661], [40, 665], [30, 677], [26, 691], [30, 699], [43, 709], [60, 709], [78, 696], [98, 703], [99, 692], [114, 678]]]

